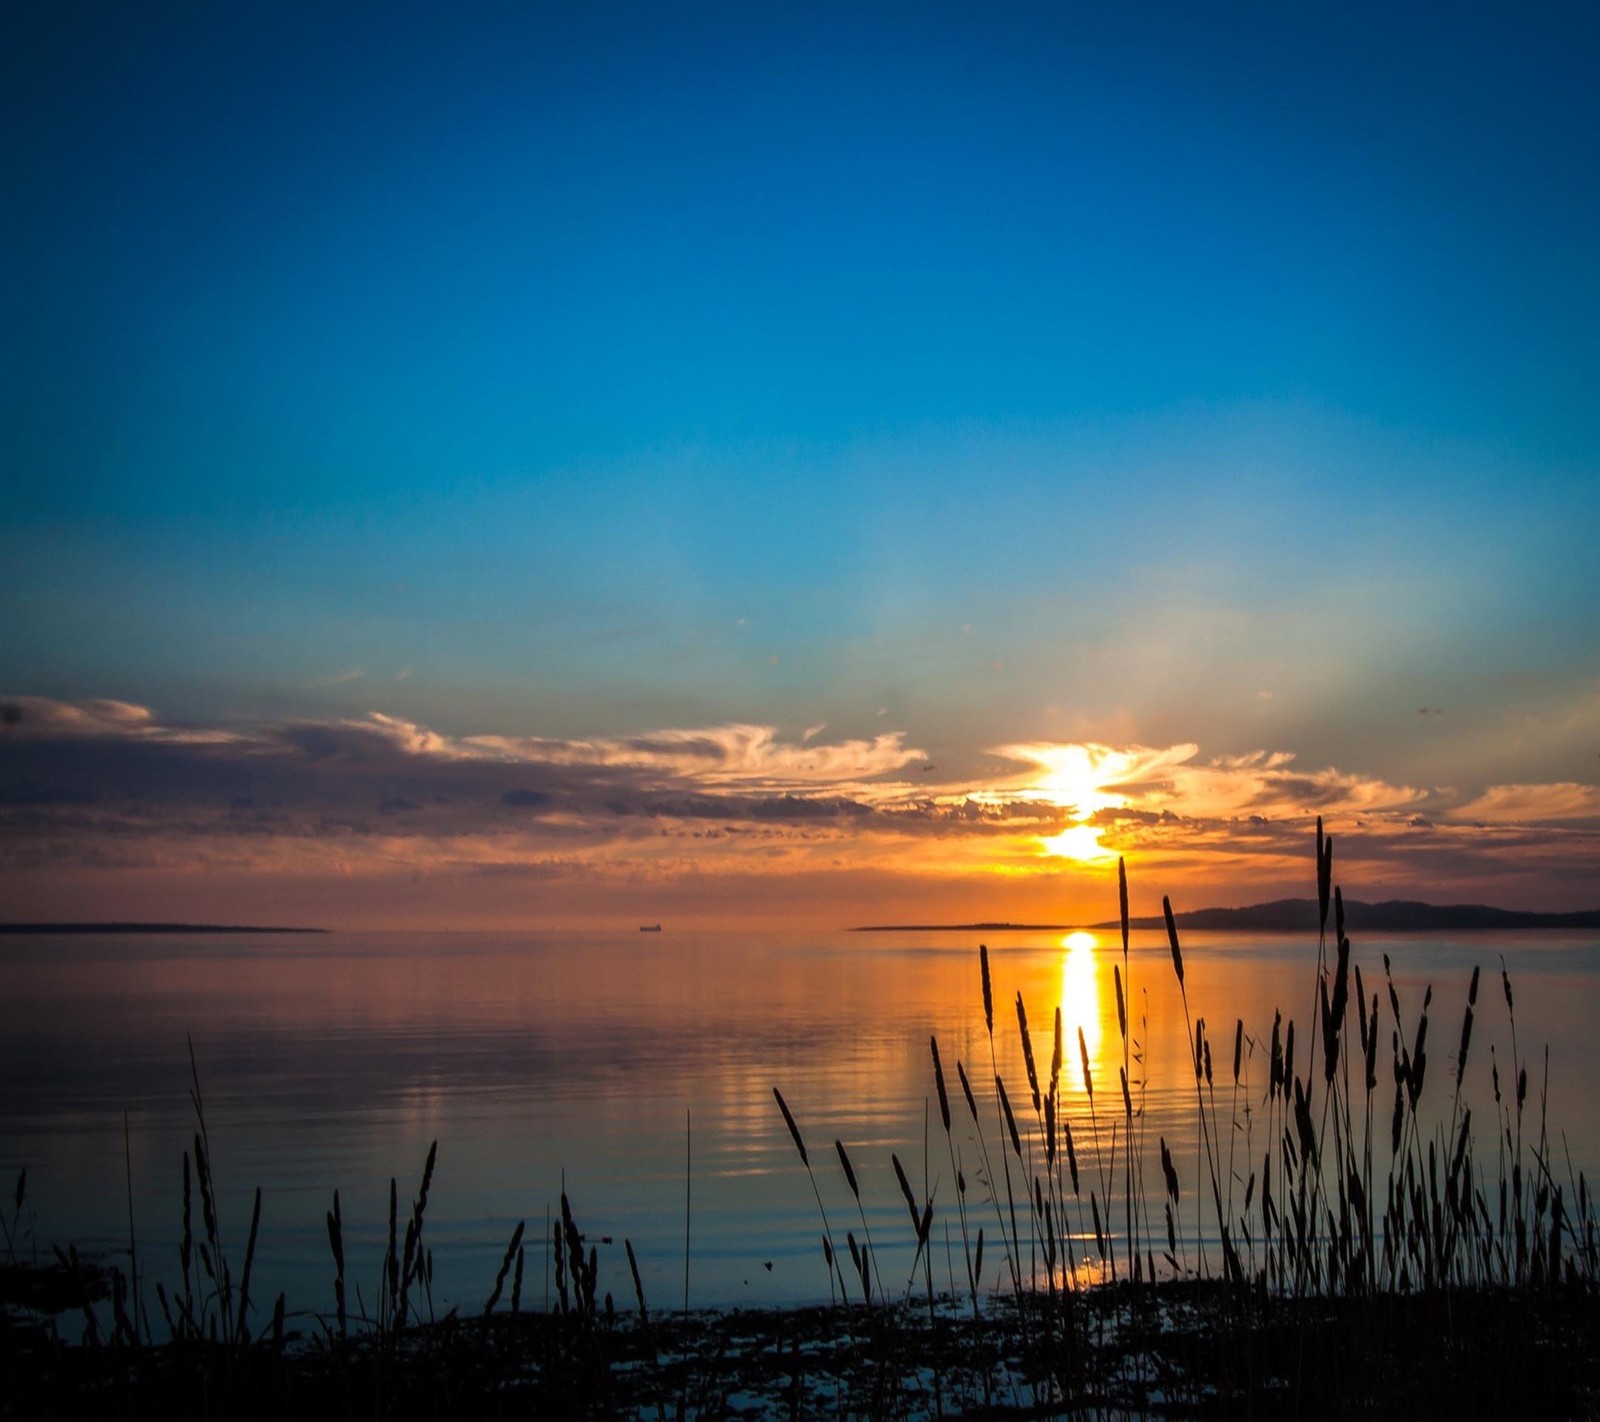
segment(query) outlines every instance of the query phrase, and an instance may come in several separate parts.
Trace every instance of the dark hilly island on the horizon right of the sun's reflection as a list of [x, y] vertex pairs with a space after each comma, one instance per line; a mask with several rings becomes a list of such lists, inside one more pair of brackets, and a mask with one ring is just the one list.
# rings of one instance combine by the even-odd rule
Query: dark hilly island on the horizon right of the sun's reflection
[[[1274, 899], [1243, 909], [1194, 909], [1174, 913], [1179, 928], [1232, 929], [1234, 933], [1317, 933], [1315, 899]], [[1528, 913], [1518, 909], [1491, 909], [1486, 904], [1419, 904], [1387, 899], [1382, 904], [1344, 901], [1349, 933], [1462, 933], [1509, 928], [1600, 928], [1600, 909], [1573, 913]], [[1102, 923], [870, 923], [853, 933], [1066, 933], [1074, 928], [1117, 929], [1120, 920]], [[1163, 918], [1130, 918], [1130, 928], [1165, 928]], [[1333, 909], [1328, 910], [1333, 928]]]

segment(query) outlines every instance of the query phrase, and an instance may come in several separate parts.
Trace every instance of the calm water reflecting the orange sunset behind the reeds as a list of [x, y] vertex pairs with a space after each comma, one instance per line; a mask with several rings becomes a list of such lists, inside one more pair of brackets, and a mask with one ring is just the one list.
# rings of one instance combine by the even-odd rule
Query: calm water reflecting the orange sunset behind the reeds
[[[1122, 1121], [1112, 985], [1120, 942], [1110, 934], [989, 934], [987, 942], [1000, 1073], [1029, 1121], [1016, 993], [1027, 1005], [1042, 1073], [1053, 1013], [1062, 1009], [1062, 1089], [1086, 1193], [1094, 1142], [1109, 1156], [1112, 1128]], [[1299, 1024], [1304, 1070], [1315, 942], [1197, 933], [1186, 936], [1184, 950], [1189, 1003], [1206, 1017], [1214, 1043], [1224, 1132], [1235, 1115], [1235, 1019], [1259, 1037], [1253, 1048], [1246, 1041], [1237, 1094], [1242, 1129], [1230, 1142], [1242, 1193], [1250, 1161], [1259, 1161], [1267, 1144], [1258, 1121], [1274, 1008]], [[1549, 1046], [1552, 1134], [1565, 1131], [1557, 1163], [1565, 1171], [1570, 1153], [1574, 1176], [1584, 1169], [1594, 1179], [1600, 937], [1358, 941], [1355, 961], [1368, 993], [1384, 1000], [1379, 1092], [1392, 1091], [1384, 952], [1394, 960], [1408, 1035], [1422, 989], [1434, 985], [1424, 1100], [1446, 1112], [1467, 979], [1474, 965], [1483, 968], [1466, 1092], [1482, 1123], [1480, 1156], [1488, 1152], [1491, 1168], [1490, 1048], [1502, 1070], [1510, 1053], [1499, 982], [1504, 953], [1534, 1100]], [[1194, 1078], [1165, 937], [1134, 936], [1130, 976], [1133, 1032], [1146, 1064], [1142, 1073], [1134, 1064], [1134, 1076], [1144, 1078], [1146, 1144], [1152, 1153], [1158, 1136], [1173, 1145], [1192, 1204]], [[1354, 1017], [1352, 1005], [1352, 1035]], [[525, 1300], [542, 1304], [541, 1232], [546, 1211], [558, 1211], [563, 1177], [579, 1225], [598, 1244], [602, 1291], [611, 1289], [619, 1307], [632, 1299], [624, 1236], [638, 1252], [651, 1305], [682, 1305], [686, 1185], [693, 1305], [827, 1297], [816, 1201], [773, 1086], [805, 1132], [840, 1238], [846, 1227], [859, 1228], [859, 1217], [832, 1150], [835, 1137], [850, 1150], [891, 1284], [904, 1284], [910, 1259], [891, 1152], [918, 1190], [928, 1180], [941, 1206], [936, 1259], [947, 1286], [942, 1222], [952, 1217], [944, 1208], [954, 1203], [954, 1172], [933, 1100], [930, 1033], [939, 1037], [950, 1076], [968, 1200], [979, 1209], [974, 1228], [987, 1219], [994, 1236], [979, 1147], [955, 1083], [960, 1059], [978, 1089], [998, 1171], [976, 936], [5, 939], [0, 1022], [0, 1193], [10, 1217], [11, 1185], [26, 1166], [24, 1252], [37, 1246], [43, 1254], [70, 1240], [123, 1260], [126, 1118], [142, 1268], [168, 1286], [178, 1276], [181, 1153], [194, 1131], [186, 1037], [194, 1038], [222, 1185], [224, 1246], [237, 1270], [251, 1192], [261, 1185], [254, 1292], [285, 1289], [291, 1308], [331, 1310], [323, 1216], [334, 1188], [352, 1283], [360, 1281], [371, 1302], [389, 1179], [398, 1176], [405, 1209], [434, 1139], [440, 1147], [427, 1236], [437, 1251], [440, 1312], [451, 1304], [482, 1308], [520, 1219], [528, 1222]], [[1091, 1059], [1093, 1112], [1078, 1027]], [[1389, 1097], [1379, 1100], [1379, 1118], [1387, 1120]], [[1158, 1198], [1155, 1166], [1150, 1179]], [[1197, 1222], [1184, 1212], [1194, 1235]], [[1085, 1249], [1093, 1252], [1093, 1240]], [[986, 1273], [997, 1273], [998, 1251], [989, 1259]], [[963, 1273], [958, 1262], [954, 1273]]]

